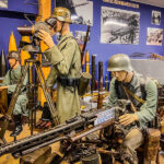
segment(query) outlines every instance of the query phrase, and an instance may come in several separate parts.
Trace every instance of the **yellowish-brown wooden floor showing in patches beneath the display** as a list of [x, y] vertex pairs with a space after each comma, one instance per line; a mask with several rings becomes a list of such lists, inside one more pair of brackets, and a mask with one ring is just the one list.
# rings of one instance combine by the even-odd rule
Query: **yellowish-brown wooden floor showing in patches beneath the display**
[[[40, 118], [40, 112], [37, 113], [37, 118]], [[34, 133], [37, 133], [37, 130], [34, 130]], [[5, 132], [5, 140], [7, 142], [13, 141], [13, 138], [10, 137], [11, 131]], [[31, 136], [30, 127], [28, 125], [23, 126], [23, 131], [17, 137], [19, 139], [25, 138]], [[51, 144], [52, 152], [58, 152], [59, 143]], [[59, 152], [58, 152], [59, 153]], [[7, 154], [3, 156], [0, 156], [0, 164], [20, 164], [20, 159], [15, 160], [11, 154]], [[155, 162], [152, 162], [151, 164], [155, 164]], [[160, 164], [164, 164], [164, 152], [161, 152], [160, 155]]]

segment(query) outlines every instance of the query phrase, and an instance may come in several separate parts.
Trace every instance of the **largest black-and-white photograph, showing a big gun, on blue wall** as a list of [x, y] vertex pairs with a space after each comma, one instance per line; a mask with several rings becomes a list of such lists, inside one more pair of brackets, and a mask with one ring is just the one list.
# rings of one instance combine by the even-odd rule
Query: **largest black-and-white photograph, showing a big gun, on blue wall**
[[102, 44], [139, 44], [140, 13], [102, 7]]

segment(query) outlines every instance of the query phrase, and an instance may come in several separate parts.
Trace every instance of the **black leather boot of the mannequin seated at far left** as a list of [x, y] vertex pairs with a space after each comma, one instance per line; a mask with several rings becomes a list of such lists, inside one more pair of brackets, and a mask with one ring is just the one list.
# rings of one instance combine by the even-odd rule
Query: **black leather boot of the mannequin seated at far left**
[[14, 115], [14, 121], [15, 121], [15, 129], [14, 131], [10, 134], [10, 137], [16, 137], [21, 133], [22, 131], [22, 119], [21, 115]]

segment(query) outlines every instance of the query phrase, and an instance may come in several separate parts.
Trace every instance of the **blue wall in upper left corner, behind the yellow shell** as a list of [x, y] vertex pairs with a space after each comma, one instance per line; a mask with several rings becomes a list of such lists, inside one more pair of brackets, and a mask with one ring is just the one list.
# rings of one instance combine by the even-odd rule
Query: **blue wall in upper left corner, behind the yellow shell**
[[[36, 2], [37, 1], [35, 0], [31, 0], [31, 3]], [[31, 23], [24, 17], [24, 14], [36, 15], [38, 12], [37, 10], [37, 5], [27, 4], [26, 0], [9, 0], [8, 8], [0, 8], [0, 51], [3, 49], [4, 54], [8, 54], [11, 32], [13, 32], [16, 45], [19, 46], [21, 35], [16, 30], [17, 26], [23, 26], [25, 24], [31, 25]]]

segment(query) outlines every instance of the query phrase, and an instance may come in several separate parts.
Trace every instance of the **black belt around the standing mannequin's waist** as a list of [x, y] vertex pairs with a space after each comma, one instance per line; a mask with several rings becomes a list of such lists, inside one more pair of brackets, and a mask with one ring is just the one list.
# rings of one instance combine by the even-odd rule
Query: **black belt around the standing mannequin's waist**
[[79, 79], [71, 79], [71, 78], [62, 78], [58, 77], [57, 81], [63, 86], [78, 86], [79, 85]]

